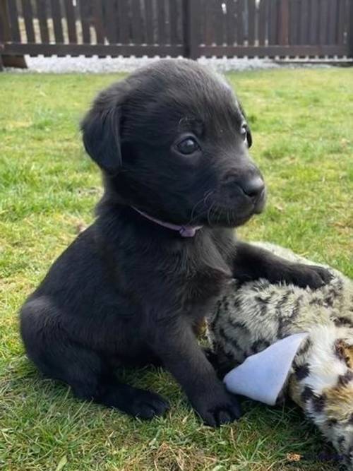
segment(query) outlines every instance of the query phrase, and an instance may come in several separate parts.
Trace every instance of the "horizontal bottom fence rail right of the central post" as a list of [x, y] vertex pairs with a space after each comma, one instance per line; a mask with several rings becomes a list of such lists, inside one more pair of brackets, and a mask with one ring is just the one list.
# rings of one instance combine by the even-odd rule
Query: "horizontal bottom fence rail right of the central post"
[[295, 57], [295, 56], [345, 56], [347, 47], [342, 45], [334, 46], [201, 46], [199, 54], [206, 57], [210, 56], [258, 56], [258, 57]]

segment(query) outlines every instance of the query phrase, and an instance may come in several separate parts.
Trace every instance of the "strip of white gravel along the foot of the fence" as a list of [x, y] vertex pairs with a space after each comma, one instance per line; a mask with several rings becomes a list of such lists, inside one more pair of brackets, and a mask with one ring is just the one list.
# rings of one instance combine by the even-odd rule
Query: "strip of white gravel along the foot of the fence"
[[[159, 57], [149, 58], [144, 57], [104, 57], [102, 59], [97, 56], [92, 57], [30, 57], [25, 56], [28, 68], [6, 68], [6, 71], [17, 73], [116, 73], [116, 72], [131, 72], [136, 68], [150, 62], [160, 59]], [[280, 68], [283, 65], [277, 64], [270, 59], [227, 59], [224, 58], [201, 58], [198, 59], [202, 64], [212, 66], [217, 71], [246, 71], [258, 68]], [[285, 64], [289, 67], [308, 66], [308, 64]], [[309, 65], [311, 66], [311, 65]], [[328, 64], [315, 64], [315, 66], [328, 67]]]

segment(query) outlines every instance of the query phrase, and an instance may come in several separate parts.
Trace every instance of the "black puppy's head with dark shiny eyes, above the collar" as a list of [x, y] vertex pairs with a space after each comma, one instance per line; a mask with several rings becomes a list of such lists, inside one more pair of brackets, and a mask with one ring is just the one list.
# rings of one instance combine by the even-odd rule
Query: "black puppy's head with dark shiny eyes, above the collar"
[[107, 191], [175, 224], [234, 227], [265, 203], [251, 132], [227, 83], [162, 60], [98, 95], [82, 124]]

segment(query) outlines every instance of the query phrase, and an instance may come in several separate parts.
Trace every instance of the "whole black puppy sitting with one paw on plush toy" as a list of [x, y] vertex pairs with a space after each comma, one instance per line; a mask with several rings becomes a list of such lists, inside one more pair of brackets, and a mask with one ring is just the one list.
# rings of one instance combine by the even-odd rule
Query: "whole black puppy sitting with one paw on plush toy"
[[104, 176], [97, 219], [54, 263], [21, 311], [40, 371], [150, 418], [156, 393], [120, 383], [124, 365], [162, 363], [206, 424], [239, 417], [194, 330], [231, 277], [318, 287], [328, 273], [234, 241], [260, 213], [263, 178], [237, 98], [193, 61], [159, 61], [98, 95], [83, 142]]

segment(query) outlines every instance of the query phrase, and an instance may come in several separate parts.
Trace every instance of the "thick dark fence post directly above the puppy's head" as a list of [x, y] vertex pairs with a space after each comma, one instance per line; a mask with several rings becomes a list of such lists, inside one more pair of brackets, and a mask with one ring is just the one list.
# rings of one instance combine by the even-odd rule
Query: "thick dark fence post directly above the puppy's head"
[[183, 44], [184, 57], [198, 58], [199, 24], [198, 0], [183, 0]]

